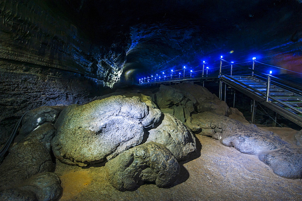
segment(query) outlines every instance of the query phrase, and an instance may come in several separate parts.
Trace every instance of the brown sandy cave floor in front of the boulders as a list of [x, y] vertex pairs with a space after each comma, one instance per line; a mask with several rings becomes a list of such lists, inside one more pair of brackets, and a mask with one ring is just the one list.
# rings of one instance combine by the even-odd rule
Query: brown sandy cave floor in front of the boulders
[[[290, 128], [267, 129], [281, 137], [282, 133], [296, 132]], [[279, 177], [257, 156], [223, 146], [219, 140], [201, 135], [196, 135], [196, 140], [199, 148], [195, 159], [182, 163], [178, 180], [167, 189], [144, 184], [137, 190], [120, 192], [109, 184], [104, 166], [81, 168], [57, 161], [61, 200], [302, 199], [301, 179]]]

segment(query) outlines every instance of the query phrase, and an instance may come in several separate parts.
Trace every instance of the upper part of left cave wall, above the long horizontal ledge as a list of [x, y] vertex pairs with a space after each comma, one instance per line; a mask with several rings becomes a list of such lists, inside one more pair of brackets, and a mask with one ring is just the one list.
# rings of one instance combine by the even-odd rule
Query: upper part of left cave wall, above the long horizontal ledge
[[125, 50], [94, 45], [50, 2], [3, 0], [0, 12], [0, 58], [85, 74], [108, 86], [118, 80]]

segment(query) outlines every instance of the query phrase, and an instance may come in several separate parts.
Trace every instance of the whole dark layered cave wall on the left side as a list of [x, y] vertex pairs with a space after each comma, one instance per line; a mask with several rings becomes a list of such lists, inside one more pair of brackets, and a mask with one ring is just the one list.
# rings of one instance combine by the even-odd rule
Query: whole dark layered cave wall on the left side
[[95, 44], [67, 15], [51, 1], [0, 1], [0, 144], [25, 111], [85, 102], [119, 79], [127, 44]]

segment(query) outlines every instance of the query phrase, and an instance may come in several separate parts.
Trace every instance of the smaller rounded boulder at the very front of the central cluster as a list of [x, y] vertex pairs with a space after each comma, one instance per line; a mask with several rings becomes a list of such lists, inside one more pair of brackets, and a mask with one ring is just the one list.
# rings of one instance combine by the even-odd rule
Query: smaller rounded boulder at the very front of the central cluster
[[169, 187], [176, 181], [180, 166], [164, 145], [149, 142], [133, 147], [105, 165], [107, 178], [117, 190], [133, 190], [140, 181]]

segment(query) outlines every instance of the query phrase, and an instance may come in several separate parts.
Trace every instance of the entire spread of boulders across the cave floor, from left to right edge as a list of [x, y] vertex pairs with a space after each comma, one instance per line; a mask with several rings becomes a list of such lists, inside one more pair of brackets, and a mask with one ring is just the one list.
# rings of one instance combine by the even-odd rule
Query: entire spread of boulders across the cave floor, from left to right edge
[[[0, 165], [0, 196], [57, 199], [62, 188], [52, 172], [52, 153], [69, 165], [106, 162], [108, 180], [120, 191], [145, 181], [169, 187], [180, 172], [178, 162], [196, 151], [192, 131], [258, 155], [279, 176], [302, 177], [301, 149], [254, 124], [228, 118], [232, 113], [242, 115], [193, 83], [120, 90], [82, 105], [37, 108], [24, 116], [24, 137]], [[301, 131], [297, 145], [300, 137]]]

